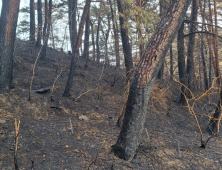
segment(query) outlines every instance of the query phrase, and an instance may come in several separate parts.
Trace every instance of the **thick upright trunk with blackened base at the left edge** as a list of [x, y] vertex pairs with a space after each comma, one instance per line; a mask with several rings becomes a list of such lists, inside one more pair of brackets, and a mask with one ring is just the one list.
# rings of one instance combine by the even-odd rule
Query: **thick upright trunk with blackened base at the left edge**
[[3, 0], [0, 17], [0, 88], [11, 89], [20, 0]]

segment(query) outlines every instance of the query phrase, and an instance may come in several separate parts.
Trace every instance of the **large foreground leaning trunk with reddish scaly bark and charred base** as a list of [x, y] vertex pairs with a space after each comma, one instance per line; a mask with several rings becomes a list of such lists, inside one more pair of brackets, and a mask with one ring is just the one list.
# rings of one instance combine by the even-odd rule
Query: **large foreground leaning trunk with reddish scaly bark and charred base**
[[114, 154], [132, 160], [144, 129], [149, 96], [153, 82], [164, 62], [191, 0], [171, 0], [151, 37], [144, 55], [139, 61], [130, 85], [123, 126], [117, 143], [112, 146]]

